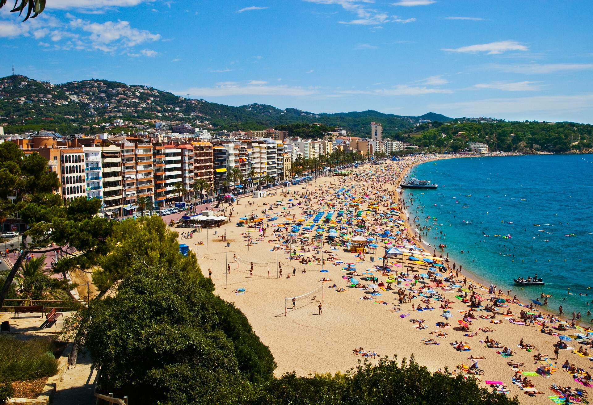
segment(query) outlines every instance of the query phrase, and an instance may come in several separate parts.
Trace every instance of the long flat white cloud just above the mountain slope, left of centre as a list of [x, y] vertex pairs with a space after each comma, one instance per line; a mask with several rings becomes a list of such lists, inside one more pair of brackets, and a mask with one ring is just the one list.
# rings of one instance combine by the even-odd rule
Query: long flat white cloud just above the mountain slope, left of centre
[[224, 97], [231, 95], [283, 95], [303, 96], [317, 94], [313, 88], [287, 85], [250, 84], [238, 82], [219, 82], [215, 87], [192, 87], [173, 91], [174, 94], [195, 94], [198, 97]]

